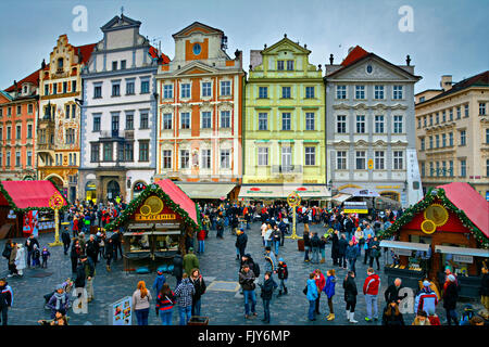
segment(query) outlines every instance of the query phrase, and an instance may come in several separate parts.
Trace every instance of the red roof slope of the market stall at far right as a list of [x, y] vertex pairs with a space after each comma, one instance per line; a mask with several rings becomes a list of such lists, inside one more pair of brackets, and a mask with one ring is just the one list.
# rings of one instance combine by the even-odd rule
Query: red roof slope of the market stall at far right
[[489, 237], [489, 202], [468, 183], [453, 182], [437, 188], [443, 189], [447, 198]]

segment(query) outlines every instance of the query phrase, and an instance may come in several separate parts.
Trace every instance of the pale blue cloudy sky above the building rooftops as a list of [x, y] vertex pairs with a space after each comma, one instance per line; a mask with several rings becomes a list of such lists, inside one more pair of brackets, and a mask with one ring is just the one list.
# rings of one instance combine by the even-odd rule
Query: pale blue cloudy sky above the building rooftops
[[[87, 11], [86, 30], [74, 30], [77, 5]], [[440, 88], [441, 75], [456, 82], [489, 69], [489, 0], [2, 0], [0, 89], [49, 61], [60, 35], [74, 46], [100, 41], [100, 27], [122, 7], [171, 59], [172, 35], [197, 21], [225, 33], [229, 56], [243, 51], [244, 70], [250, 50], [284, 34], [306, 43], [315, 65], [329, 64], [331, 53], [339, 64], [356, 44], [393, 64], [410, 54], [423, 77], [415, 92]]]

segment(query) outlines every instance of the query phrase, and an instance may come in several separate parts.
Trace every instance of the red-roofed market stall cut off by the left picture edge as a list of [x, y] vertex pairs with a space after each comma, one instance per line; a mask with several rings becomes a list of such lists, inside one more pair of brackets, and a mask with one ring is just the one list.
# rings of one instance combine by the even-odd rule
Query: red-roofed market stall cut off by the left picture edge
[[60, 196], [63, 206], [67, 206], [64, 196], [49, 180], [1, 181], [0, 239], [22, 237], [33, 231], [54, 231], [54, 213], [49, 206], [53, 195]]

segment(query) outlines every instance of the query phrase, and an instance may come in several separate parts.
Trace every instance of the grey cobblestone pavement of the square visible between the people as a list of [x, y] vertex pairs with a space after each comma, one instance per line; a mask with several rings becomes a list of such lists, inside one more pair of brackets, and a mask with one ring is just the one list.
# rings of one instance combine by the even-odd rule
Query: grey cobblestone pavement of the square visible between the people
[[[298, 233], [301, 235], [303, 226], [298, 227]], [[311, 231], [324, 232], [321, 226], [311, 226]], [[253, 223], [248, 233], [247, 253], [250, 253], [254, 260], [258, 260], [263, 269], [263, 246], [260, 235], [260, 223]], [[319, 233], [319, 234], [321, 234]], [[15, 240], [24, 243], [24, 240]], [[41, 235], [39, 242], [41, 247], [47, 243], [53, 241], [53, 235]], [[221, 325], [255, 325], [262, 324], [263, 305], [260, 298], [260, 288], [256, 290], [256, 312], [258, 317], [252, 319], [244, 319], [243, 297], [239, 294], [238, 284], [238, 267], [239, 262], [236, 260], [235, 248], [236, 236], [231, 235], [229, 231], [225, 232], [224, 240], [215, 237], [215, 231], [211, 231], [209, 239], [205, 241], [205, 253], [198, 255], [200, 259], [200, 268], [209, 290], [202, 296], [201, 316], [210, 318], [210, 324]], [[3, 249], [5, 241], [0, 242], [0, 249]], [[43, 295], [54, 290], [55, 285], [63, 282], [71, 277], [71, 261], [68, 256], [63, 255], [62, 247], [51, 247], [51, 258], [49, 259], [48, 269], [25, 269], [24, 277], [8, 279], [9, 284], [14, 291], [14, 307], [9, 311], [9, 324], [36, 324], [39, 319], [49, 319], [49, 310], [43, 309]], [[333, 266], [330, 259], [330, 245], [326, 245], [326, 262], [313, 265], [304, 262], [304, 253], [298, 250], [297, 241], [286, 239], [283, 247], [279, 248], [278, 257], [283, 257], [289, 268], [289, 280], [287, 282], [288, 295], [276, 297], [276, 293], [271, 304], [271, 324], [276, 325], [342, 325], [351, 324], [346, 319], [342, 280], [347, 270], [337, 270], [337, 285], [336, 295], [334, 297], [334, 307], [336, 319], [334, 321], [326, 321], [325, 313], [328, 313], [327, 299], [323, 295], [321, 297], [321, 316], [317, 320], [310, 322], [308, 320], [309, 303], [302, 293], [305, 286], [309, 273], [316, 268], [319, 268], [323, 273]], [[277, 258], [278, 258], [277, 257]], [[381, 278], [379, 292], [379, 321], [367, 323], [364, 320], [366, 314], [366, 306], [364, 296], [362, 294], [363, 282], [366, 278], [367, 266], [363, 265], [362, 258], [356, 261], [356, 286], [359, 290], [358, 303], [355, 308], [355, 320], [358, 324], [375, 325], [380, 324], [381, 309], [385, 307], [384, 291], [387, 287], [387, 277], [384, 275], [383, 270], [379, 271]], [[380, 258], [380, 269], [384, 267], [384, 257]], [[1, 259], [0, 274], [5, 275], [7, 261]], [[110, 304], [116, 300], [130, 296], [136, 288], [137, 282], [146, 281], [147, 286], [151, 291], [155, 273], [150, 274], [127, 274], [123, 270], [123, 261], [120, 259], [112, 266], [112, 272], [106, 272], [104, 264], [97, 266], [95, 277], [95, 300], [88, 304], [88, 313], [76, 314], [70, 310], [71, 324], [109, 324], [109, 307]], [[166, 275], [167, 283], [172, 288], [175, 288], [176, 280], [174, 277]], [[275, 275], [275, 280], [276, 279]], [[263, 281], [263, 273], [260, 277]], [[222, 283], [234, 282], [234, 283]], [[155, 293], [151, 291], [153, 297]], [[478, 303], [472, 303], [477, 309], [480, 308]], [[459, 312], [464, 303], [459, 303]], [[438, 305], [437, 313], [441, 319], [444, 319], [444, 310], [442, 305]], [[404, 314], [406, 324], [411, 324], [414, 319], [413, 314]], [[152, 325], [160, 324], [160, 319], [154, 313], [154, 304], [150, 309], [149, 323]], [[133, 319], [133, 324], [136, 324], [136, 318]], [[178, 324], [177, 308], [174, 309], [173, 324]]]

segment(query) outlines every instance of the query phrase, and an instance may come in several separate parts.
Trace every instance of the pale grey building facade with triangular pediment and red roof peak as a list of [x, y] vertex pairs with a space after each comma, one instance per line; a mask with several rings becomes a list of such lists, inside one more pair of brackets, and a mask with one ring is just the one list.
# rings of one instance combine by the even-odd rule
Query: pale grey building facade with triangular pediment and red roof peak
[[336, 190], [368, 189], [409, 206], [423, 198], [417, 167], [414, 66], [393, 65], [356, 46], [326, 65], [328, 179]]

